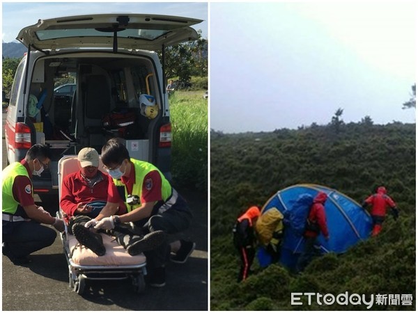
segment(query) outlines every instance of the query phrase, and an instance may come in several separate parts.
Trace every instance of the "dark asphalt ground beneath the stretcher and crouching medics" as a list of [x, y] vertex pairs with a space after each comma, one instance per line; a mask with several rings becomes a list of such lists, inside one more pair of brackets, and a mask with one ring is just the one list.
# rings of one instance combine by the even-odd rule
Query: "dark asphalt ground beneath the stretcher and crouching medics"
[[[6, 166], [4, 140], [2, 166]], [[69, 287], [68, 264], [61, 239], [57, 236], [52, 246], [31, 255], [33, 262], [29, 265], [15, 266], [3, 256], [2, 310], [207, 311], [208, 200], [206, 195], [199, 193], [182, 190], [179, 193], [186, 198], [194, 213], [194, 223], [182, 238], [194, 240], [196, 250], [185, 264], [167, 264], [165, 287], [147, 286], [144, 294], [135, 294], [130, 280], [87, 281], [84, 294], [79, 296]]]

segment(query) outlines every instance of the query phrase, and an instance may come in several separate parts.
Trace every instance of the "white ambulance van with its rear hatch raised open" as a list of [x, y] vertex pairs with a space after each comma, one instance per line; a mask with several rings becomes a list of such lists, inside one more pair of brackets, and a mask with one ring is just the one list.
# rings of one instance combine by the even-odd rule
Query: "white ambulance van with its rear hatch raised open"
[[[42, 198], [58, 189], [57, 163], [83, 147], [100, 153], [118, 137], [134, 159], [171, 179], [171, 125], [164, 48], [198, 35], [199, 19], [104, 14], [40, 19], [20, 31], [27, 53], [17, 67], [5, 125], [8, 163], [35, 143], [49, 145], [51, 166], [33, 177]], [[162, 60], [156, 51], [162, 51]], [[72, 95], [54, 93], [66, 78]], [[46, 197], [45, 197], [46, 198]]]

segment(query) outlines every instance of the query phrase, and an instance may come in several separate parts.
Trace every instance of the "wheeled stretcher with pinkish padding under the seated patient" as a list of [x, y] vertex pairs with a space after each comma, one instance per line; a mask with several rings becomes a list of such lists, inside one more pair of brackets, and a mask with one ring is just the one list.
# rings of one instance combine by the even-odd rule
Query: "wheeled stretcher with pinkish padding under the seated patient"
[[[99, 170], [103, 165], [100, 160]], [[59, 197], [61, 199], [61, 184], [63, 177], [79, 170], [77, 155], [65, 156], [58, 163]], [[59, 218], [63, 218], [61, 207], [57, 212]], [[70, 287], [83, 294], [86, 280], [132, 280], [134, 291], [141, 293], [145, 290], [146, 257], [129, 255], [113, 237], [100, 234], [106, 247], [106, 254], [99, 257], [90, 249], [81, 246], [75, 236], [69, 234], [67, 225], [61, 232], [63, 250], [68, 262], [68, 280]]]

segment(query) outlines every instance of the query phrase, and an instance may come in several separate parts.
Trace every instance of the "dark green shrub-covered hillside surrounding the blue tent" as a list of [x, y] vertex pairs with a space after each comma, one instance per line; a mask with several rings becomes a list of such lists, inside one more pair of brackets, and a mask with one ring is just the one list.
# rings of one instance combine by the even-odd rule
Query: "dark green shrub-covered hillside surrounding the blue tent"
[[[412, 305], [373, 305], [371, 310], [415, 310], [415, 124], [350, 123], [338, 134], [329, 126], [222, 134], [210, 142], [211, 310], [367, 310], [366, 305], [291, 305], [292, 292], [411, 294]], [[242, 209], [265, 202], [293, 184], [336, 188], [359, 203], [385, 185], [400, 211], [382, 232], [342, 255], [314, 259], [302, 275], [279, 264], [238, 284], [239, 257], [231, 225]]]

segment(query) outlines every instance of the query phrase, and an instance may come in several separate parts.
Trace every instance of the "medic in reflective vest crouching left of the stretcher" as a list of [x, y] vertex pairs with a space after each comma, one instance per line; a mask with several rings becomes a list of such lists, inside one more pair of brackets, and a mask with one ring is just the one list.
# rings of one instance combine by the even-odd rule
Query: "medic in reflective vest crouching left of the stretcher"
[[40, 176], [50, 159], [46, 145], [33, 145], [22, 161], [11, 163], [2, 172], [2, 250], [14, 264], [31, 262], [28, 256], [32, 252], [54, 243], [55, 230], [41, 223], [52, 225], [60, 232], [64, 230], [63, 220], [52, 217], [33, 200], [31, 177]]

